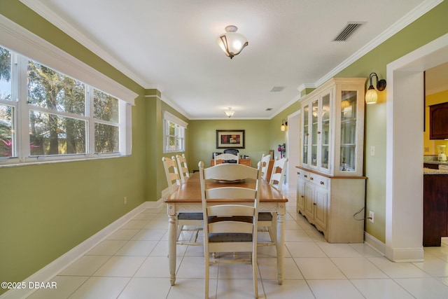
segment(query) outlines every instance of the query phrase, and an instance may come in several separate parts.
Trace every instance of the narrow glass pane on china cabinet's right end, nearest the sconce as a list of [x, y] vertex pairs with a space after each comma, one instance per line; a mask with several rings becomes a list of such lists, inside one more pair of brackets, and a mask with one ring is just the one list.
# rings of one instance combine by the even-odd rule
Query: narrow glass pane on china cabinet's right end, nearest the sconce
[[358, 92], [342, 91], [341, 98], [341, 146], [340, 167], [342, 172], [356, 171], [356, 105]]

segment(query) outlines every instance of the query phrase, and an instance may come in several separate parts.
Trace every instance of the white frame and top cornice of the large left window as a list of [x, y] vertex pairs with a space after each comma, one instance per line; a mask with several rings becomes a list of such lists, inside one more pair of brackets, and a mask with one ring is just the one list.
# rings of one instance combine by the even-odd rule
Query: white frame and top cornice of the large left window
[[[13, 106], [15, 109], [15, 136], [17, 139], [16, 146], [18, 148], [15, 154], [17, 157], [0, 158], [0, 167], [25, 165], [33, 162], [64, 162], [66, 160], [120, 157], [132, 154], [132, 106], [134, 105], [134, 99], [138, 96], [136, 92], [125, 88], [123, 85], [113, 81], [113, 79], [105, 76], [96, 69], [77, 60], [75, 57], [65, 53], [63, 50], [60, 50], [51, 43], [26, 31], [19, 25], [2, 16], [0, 16], [0, 44], [3, 48], [10, 50], [13, 64], [12, 67], [14, 68], [18, 66], [18, 69], [11, 69], [11, 72], [17, 72], [17, 76], [13, 75], [14, 78], [11, 78], [13, 84], [11, 101], [0, 100], [0, 104]], [[94, 135], [94, 130], [91, 130], [89, 127], [87, 129], [88, 136], [86, 134], [87, 153], [31, 157], [29, 155], [29, 134], [28, 136], [25, 134], [25, 132], [28, 132], [29, 130], [29, 111], [38, 110], [76, 119], [84, 119], [84, 117], [61, 111], [57, 111], [57, 113], [52, 110], [45, 111], [45, 109], [42, 109], [41, 107], [30, 106], [27, 104], [28, 87], [27, 84], [20, 83], [27, 81], [27, 63], [15, 64], [15, 62], [19, 62], [18, 60], [21, 60], [22, 57], [24, 57], [25, 60], [34, 60], [39, 64], [45, 65], [45, 67], [54, 69], [59, 73], [83, 82], [85, 85], [89, 85], [91, 88], [95, 88], [119, 99], [119, 152], [94, 153], [94, 139], [91, 138], [91, 135]], [[17, 90], [17, 94], [15, 90]], [[92, 104], [87, 100], [85, 103], [92, 106], [93, 100]], [[90, 109], [90, 107], [87, 109]], [[90, 113], [87, 118], [90, 119], [88, 120], [87, 126], [94, 127], [94, 123], [97, 122], [97, 120], [94, 120], [93, 113]], [[105, 122], [100, 120], [98, 123]]]

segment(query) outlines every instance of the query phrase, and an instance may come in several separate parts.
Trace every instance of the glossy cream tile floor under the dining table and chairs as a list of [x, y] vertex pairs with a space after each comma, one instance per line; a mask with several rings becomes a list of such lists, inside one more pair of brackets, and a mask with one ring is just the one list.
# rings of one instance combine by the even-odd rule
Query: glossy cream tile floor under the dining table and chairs
[[[425, 248], [423, 263], [392, 263], [365, 244], [326, 243], [296, 213], [295, 190], [283, 193], [285, 280], [276, 283], [274, 247], [261, 247], [260, 298], [448, 298], [448, 239]], [[202, 246], [178, 246], [171, 286], [167, 243], [165, 207], [147, 209], [57, 274], [57, 289], [29, 298], [204, 298]], [[210, 273], [209, 298], [253, 298], [250, 265], [213, 265]]]

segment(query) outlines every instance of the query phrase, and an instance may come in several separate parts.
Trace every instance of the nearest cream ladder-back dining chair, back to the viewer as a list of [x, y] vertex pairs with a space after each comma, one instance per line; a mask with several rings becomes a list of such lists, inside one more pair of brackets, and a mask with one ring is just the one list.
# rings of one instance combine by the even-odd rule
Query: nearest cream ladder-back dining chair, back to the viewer
[[[260, 167], [256, 169], [241, 164], [224, 163], [204, 168], [204, 162], [201, 161], [199, 162], [199, 171], [202, 211], [204, 213], [205, 298], [209, 298], [210, 263], [251, 263], [253, 291], [255, 298], [258, 298], [257, 233], [261, 183]], [[221, 186], [206, 184], [206, 180], [237, 181], [248, 179], [255, 180], [253, 188], [226, 186], [226, 183], [221, 183]], [[218, 202], [215, 204], [211, 200], [218, 200]], [[239, 204], [236, 202], [239, 202]], [[226, 259], [220, 257], [211, 260], [210, 253], [223, 252], [249, 252], [251, 258]]]

